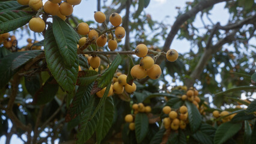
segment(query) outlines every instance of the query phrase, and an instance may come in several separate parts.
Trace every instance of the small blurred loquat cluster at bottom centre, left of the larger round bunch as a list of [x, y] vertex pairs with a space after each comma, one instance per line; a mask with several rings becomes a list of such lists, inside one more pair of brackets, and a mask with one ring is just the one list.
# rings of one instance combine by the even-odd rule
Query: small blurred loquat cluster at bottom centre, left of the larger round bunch
[[150, 113], [151, 112], [151, 107], [150, 106], [144, 106], [143, 103], [138, 103], [138, 104], [133, 104], [132, 105], [133, 115], [129, 114], [124, 117], [124, 121], [129, 122], [129, 129], [130, 130], [135, 130], [135, 123], [134, 119], [136, 117], [137, 113]]

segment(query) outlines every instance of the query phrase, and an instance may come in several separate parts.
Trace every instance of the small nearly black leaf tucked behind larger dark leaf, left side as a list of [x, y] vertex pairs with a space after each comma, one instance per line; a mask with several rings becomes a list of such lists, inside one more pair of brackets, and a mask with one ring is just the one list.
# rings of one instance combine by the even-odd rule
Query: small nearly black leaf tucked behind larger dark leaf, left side
[[26, 90], [32, 96], [41, 88], [40, 76], [35, 74], [34, 76], [25, 77]]

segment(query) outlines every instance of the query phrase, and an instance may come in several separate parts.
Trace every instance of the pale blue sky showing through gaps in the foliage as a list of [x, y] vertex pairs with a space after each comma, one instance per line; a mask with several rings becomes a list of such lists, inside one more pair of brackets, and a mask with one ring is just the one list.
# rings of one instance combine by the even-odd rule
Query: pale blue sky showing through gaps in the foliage
[[[109, 3], [111, 0], [107, 0], [106, 2]], [[151, 0], [150, 4], [147, 8], [144, 9], [145, 13], [151, 14], [151, 18], [153, 20], [162, 21], [166, 24], [172, 25], [175, 22], [175, 17], [177, 16], [178, 10], [175, 7], [180, 7], [183, 10], [185, 3], [189, 0]], [[46, 0], [43, 0], [46, 2]], [[221, 25], [226, 25], [228, 22], [228, 10], [224, 9], [225, 2], [221, 4], [216, 4], [213, 7], [213, 10], [210, 11], [212, 14], [210, 18], [213, 20], [213, 23], [220, 22]], [[87, 20], [94, 20], [93, 14], [94, 11], [97, 11], [97, 1], [96, 0], [82, 0], [81, 4], [76, 5], [74, 7], [73, 15], [79, 17], [79, 19], [83, 19], [84, 21]], [[121, 13], [123, 17], [124, 14]], [[166, 16], [169, 16], [166, 18]], [[204, 16], [205, 18], [206, 16]], [[203, 23], [200, 20], [200, 14], [197, 15], [195, 22], [193, 23], [197, 27], [203, 27]], [[210, 24], [209, 21], [206, 20], [206, 25]], [[167, 30], [170, 31], [170, 28]], [[33, 34], [32, 34], [33, 35]], [[28, 35], [21, 35], [19, 32], [16, 33], [16, 37], [19, 40], [19, 47], [25, 46], [26, 39]], [[33, 37], [33, 36], [31, 36]], [[42, 37], [38, 37], [37, 40], [41, 40]], [[163, 46], [164, 41], [160, 42], [160, 46]], [[256, 38], [252, 38], [249, 43], [256, 43]], [[190, 43], [186, 40], [177, 40], [176, 38], [171, 44], [171, 49], [178, 50], [179, 53], [189, 52], [190, 50]], [[169, 79], [172, 79], [169, 77]], [[9, 122], [11, 125], [11, 122]], [[5, 137], [0, 138], [0, 144], [5, 143]], [[11, 138], [11, 143], [19, 144], [23, 143], [20, 139], [17, 138], [16, 135], [13, 135]], [[58, 143], [56, 140], [55, 143]]]

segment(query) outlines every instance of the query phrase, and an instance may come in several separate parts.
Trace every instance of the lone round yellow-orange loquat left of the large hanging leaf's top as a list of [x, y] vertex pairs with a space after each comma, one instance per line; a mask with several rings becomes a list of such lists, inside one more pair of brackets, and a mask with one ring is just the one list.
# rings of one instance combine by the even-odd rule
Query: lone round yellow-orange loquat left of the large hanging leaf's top
[[34, 32], [43, 32], [45, 23], [40, 17], [33, 17], [28, 23], [29, 29]]

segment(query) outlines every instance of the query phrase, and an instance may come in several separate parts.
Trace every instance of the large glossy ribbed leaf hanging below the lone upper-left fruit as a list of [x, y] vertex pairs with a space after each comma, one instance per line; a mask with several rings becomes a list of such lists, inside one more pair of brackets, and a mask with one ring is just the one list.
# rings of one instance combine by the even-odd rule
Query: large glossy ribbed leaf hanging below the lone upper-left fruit
[[50, 72], [64, 90], [72, 92], [78, 77], [78, 59], [72, 67], [64, 64], [51, 25], [48, 26], [44, 38], [45, 58]]

